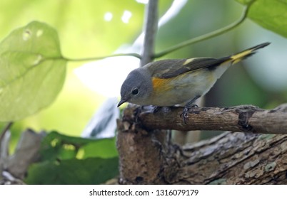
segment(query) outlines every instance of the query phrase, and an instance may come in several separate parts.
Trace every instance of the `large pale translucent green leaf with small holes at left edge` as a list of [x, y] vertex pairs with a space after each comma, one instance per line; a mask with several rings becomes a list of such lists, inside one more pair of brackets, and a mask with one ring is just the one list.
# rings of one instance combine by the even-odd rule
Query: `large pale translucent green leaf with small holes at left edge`
[[0, 121], [23, 119], [47, 107], [65, 74], [54, 28], [33, 21], [11, 32], [0, 43]]

